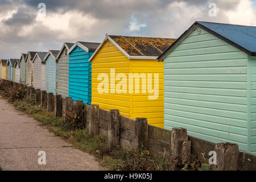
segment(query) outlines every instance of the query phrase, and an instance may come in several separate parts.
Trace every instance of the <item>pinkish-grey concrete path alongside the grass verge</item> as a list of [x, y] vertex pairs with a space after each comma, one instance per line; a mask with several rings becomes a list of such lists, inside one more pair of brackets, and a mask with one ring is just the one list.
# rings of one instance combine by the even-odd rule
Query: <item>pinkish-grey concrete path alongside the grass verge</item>
[[[39, 165], [39, 151], [46, 165]], [[94, 156], [71, 147], [0, 96], [0, 167], [3, 170], [105, 170]]]

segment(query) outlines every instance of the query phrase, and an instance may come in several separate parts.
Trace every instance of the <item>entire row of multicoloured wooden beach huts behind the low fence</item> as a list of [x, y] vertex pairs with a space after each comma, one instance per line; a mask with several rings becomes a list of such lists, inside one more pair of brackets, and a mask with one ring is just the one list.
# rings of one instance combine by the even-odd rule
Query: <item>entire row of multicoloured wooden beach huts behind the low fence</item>
[[1, 59], [0, 76], [256, 154], [256, 27], [195, 22], [178, 39], [64, 43]]

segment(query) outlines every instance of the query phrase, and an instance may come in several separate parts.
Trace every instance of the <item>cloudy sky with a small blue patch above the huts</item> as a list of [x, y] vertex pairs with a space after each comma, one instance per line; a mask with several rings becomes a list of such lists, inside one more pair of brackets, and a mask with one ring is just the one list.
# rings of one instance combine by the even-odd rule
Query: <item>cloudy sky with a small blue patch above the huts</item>
[[[210, 3], [216, 16], [209, 16]], [[0, 0], [0, 59], [63, 42], [102, 42], [106, 33], [178, 38], [196, 20], [256, 26], [256, 1]]]

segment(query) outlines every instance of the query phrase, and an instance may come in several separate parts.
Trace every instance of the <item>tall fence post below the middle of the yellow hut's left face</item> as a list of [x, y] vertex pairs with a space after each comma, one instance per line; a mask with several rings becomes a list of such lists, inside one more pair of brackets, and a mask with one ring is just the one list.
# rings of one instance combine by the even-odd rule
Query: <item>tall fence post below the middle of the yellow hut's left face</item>
[[109, 111], [108, 148], [118, 146], [120, 142], [120, 114], [119, 110]]

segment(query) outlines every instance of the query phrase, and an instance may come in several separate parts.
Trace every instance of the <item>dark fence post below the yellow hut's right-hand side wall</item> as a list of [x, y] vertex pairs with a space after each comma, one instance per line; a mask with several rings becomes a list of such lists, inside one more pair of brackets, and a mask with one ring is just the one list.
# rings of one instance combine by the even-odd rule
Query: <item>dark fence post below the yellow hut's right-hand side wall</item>
[[138, 148], [147, 148], [148, 140], [148, 125], [147, 118], [136, 118], [135, 119], [135, 135], [137, 139]]

